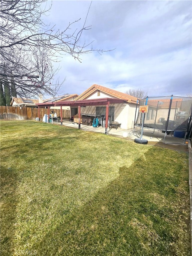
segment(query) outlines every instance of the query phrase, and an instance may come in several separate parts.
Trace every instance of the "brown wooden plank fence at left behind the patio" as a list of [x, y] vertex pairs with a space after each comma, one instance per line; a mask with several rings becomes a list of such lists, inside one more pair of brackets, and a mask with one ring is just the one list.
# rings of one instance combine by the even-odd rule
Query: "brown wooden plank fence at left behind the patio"
[[[51, 109], [54, 113], [57, 113], [57, 116], [61, 116], [60, 109]], [[50, 112], [51, 113], [51, 112]], [[40, 119], [43, 119], [43, 116], [48, 113], [48, 109], [40, 108]], [[26, 119], [35, 119], [38, 117], [38, 108], [37, 107], [9, 107], [9, 106], [0, 106], [0, 119], [5, 120], [26, 120]], [[70, 110], [62, 110], [63, 119], [70, 118]]]

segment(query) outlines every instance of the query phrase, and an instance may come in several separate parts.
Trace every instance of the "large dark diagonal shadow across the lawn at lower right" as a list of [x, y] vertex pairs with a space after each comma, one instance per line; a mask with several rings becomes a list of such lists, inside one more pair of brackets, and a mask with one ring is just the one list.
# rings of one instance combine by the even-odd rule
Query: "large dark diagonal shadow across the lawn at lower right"
[[[187, 170], [149, 150], [36, 244], [39, 255], [190, 255]], [[176, 157], [178, 152], [171, 152]], [[150, 165], [150, 163], [153, 163]], [[146, 168], [148, 166], [148, 168]], [[162, 169], [164, 168], [164, 169]], [[187, 199], [186, 199], [187, 197]], [[182, 203], [181, 203], [182, 202]]]

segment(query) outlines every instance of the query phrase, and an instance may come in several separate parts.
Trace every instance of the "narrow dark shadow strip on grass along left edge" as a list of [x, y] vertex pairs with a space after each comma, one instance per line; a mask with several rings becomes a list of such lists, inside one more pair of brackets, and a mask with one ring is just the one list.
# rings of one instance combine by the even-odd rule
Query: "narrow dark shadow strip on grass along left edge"
[[1, 166], [1, 255], [13, 253], [17, 185], [18, 175], [13, 168]]

